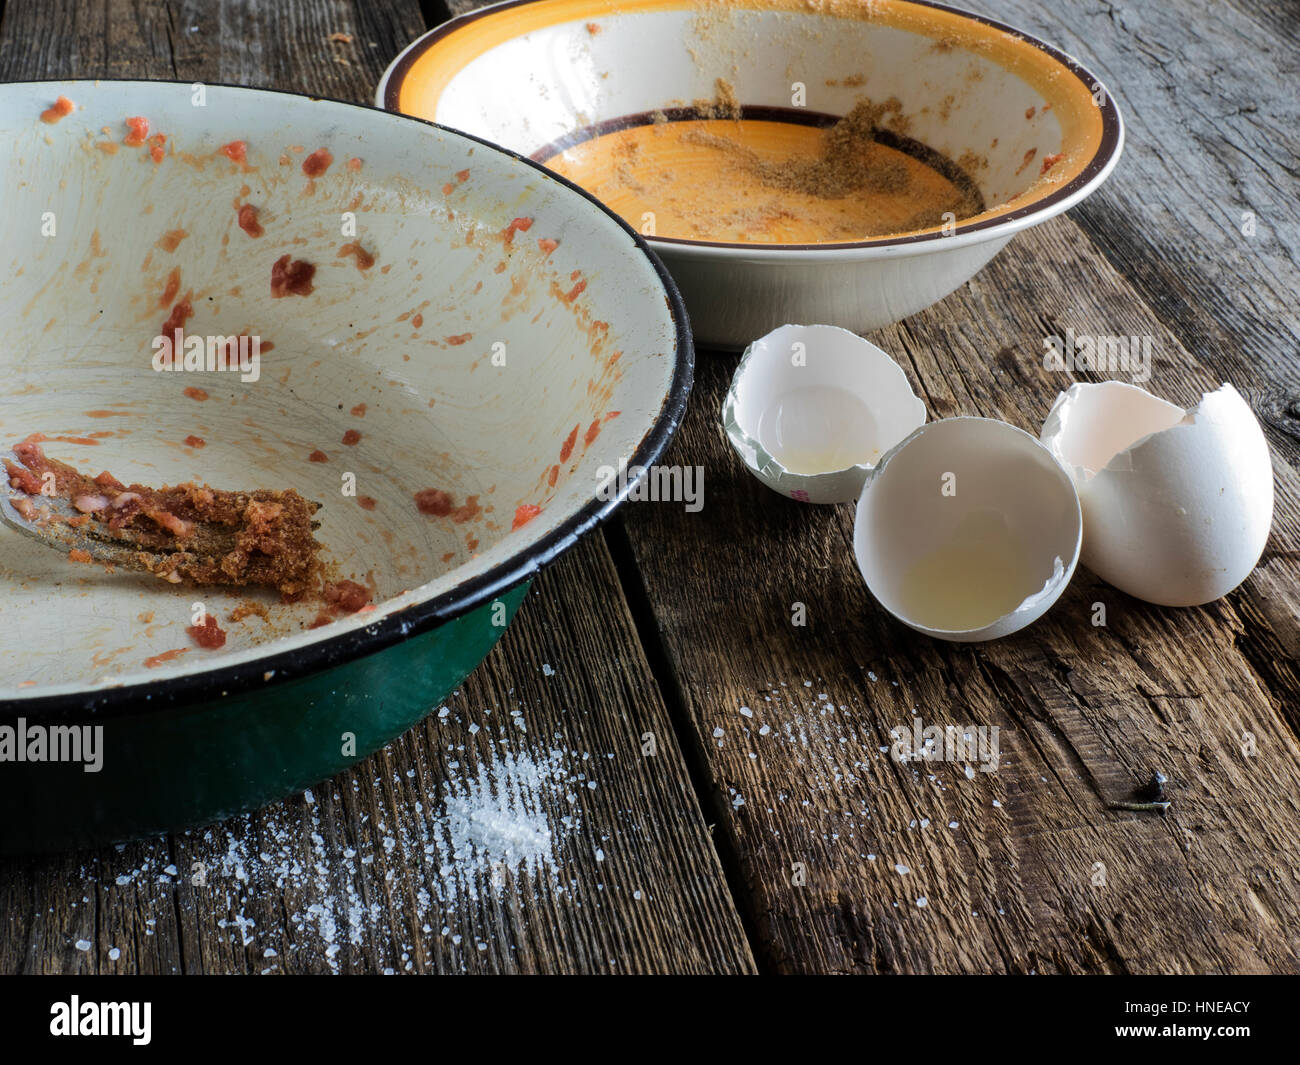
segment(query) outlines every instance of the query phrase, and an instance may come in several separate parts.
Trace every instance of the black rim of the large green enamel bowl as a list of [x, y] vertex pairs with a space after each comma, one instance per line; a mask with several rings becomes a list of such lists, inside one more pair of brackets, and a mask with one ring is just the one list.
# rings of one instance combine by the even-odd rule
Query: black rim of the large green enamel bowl
[[[49, 86], [68, 87], [72, 85], [169, 85], [186, 86], [191, 82], [160, 81], [150, 78], [34, 78], [20, 82], [6, 82], [5, 86]], [[341, 632], [338, 636], [326, 636], [303, 648], [283, 651], [272, 651], [260, 655], [251, 662], [230, 666], [214, 666], [195, 674], [183, 674], [173, 677], [160, 677], [138, 684], [124, 684], [117, 688], [99, 688], [94, 690], [74, 690], [49, 696], [32, 694], [31, 697], [10, 698], [0, 702], [0, 711], [5, 714], [23, 713], [43, 717], [56, 717], [58, 714], [94, 711], [96, 715], [112, 715], [114, 713], [156, 711], [168, 706], [199, 702], [203, 700], [225, 696], [239, 696], [255, 689], [269, 689], [277, 684], [296, 680], [311, 674], [321, 672], [333, 666], [342, 666], [352, 659], [385, 650], [403, 640], [428, 632], [445, 622], [450, 622], [469, 611], [491, 602], [498, 596], [508, 592], [521, 581], [529, 580], [546, 564], [554, 562], [559, 555], [572, 547], [581, 536], [594, 529], [604, 521], [627, 499], [627, 497], [645, 480], [646, 468], [653, 466], [664, 453], [673, 433], [681, 424], [686, 410], [686, 399], [690, 395], [690, 386], [694, 380], [694, 342], [690, 335], [690, 325], [686, 317], [686, 308], [681, 300], [677, 286], [664, 268], [659, 256], [646, 243], [645, 238], [628, 225], [621, 217], [614, 213], [595, 196], [573, 182], [547, 170], [519, 152], [503, 148], [481, 137], [464, 133], [450, 126], [430, 122], [413, 114], [400, 114], [398, 112], [378, 108], [372, 104], [358, 104], [351, 100], [339, 100], [333, 96], [318, 96], [313, 94], [292, 92], [285, 88], [252, 88], [250, 86], [229, 85], [224, 82], [204, 82], [209, 88], [229, 88], [248, 94], [274, 94], [278, 96], [294, 96], [296, 99], [337, 104], [339, 107], [355, 108], [385, 116], [385, 121], [416, 122], [429, 126], [455, 138], [463, 138], [477, 146], [489, 148], [499, 155], [508, 156], [529, 169], [537, 170], [549, 181], [562, 185], [576, 192], [584, 200], [612, 218], [624, 233], [627, 233], [640, 251], [650, 261], [659, 282], [663, 285], [668, 302], [668, 312], [672, 317], [676, 334], [676, 359], [672, 380], [668, 391], [659, 407], [649, 432], [641, 438], [636, 450], [628, 458], [628, 476], [618, 482], [618, 492], [610, 499], [599, 499], [593, 495], [580, 510], [569, 515], [556, 528], [525, 550], [511, 555], [490, 570], [484, 571], [462, 584], [448, 588], [446, 592], [430, 599], [424, 599], [399, 610], [386, 618], [380, 618], [373, 624], [361, 628]], [[4, 86], [0, 86], [3, 91]], [[633, 468], [640, 469], [633, 475]], [[274, 646], [274, 641], [268, 644]]]

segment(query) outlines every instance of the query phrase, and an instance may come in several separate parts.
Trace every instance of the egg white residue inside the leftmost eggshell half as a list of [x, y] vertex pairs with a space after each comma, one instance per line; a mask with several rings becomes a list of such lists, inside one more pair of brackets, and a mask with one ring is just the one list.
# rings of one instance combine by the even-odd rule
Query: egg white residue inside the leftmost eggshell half
[[777, 397], [758, 419], [758, 442], [792, 473], [829, 473], [880, 456], [871, 411], [852, 391], [810, 385]]

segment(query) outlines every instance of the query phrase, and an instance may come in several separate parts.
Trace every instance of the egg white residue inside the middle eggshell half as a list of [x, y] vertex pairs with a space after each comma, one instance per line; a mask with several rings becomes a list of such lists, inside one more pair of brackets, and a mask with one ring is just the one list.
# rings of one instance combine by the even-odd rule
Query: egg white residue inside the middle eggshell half
[[904, 572], [897, 612], [926, 628], [984, 628], [1041, 590], [1032, 558], [1001, 511], [972, 510], [946, 542]]

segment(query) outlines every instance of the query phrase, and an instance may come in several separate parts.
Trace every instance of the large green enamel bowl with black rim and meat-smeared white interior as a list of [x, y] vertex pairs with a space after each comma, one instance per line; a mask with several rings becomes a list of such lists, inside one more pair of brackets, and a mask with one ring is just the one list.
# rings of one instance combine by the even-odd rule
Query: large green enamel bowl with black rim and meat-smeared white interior
[[[330, 579], [370, 596], [172, 585], [0, 525], [0, 852], [209, 823], [380, 749], [680, 423], [693, 352], [662, 264], [473, 137], [105, 81], [0, 86], [0, 454], [39, 433], [126, 484], [296, 489]], [[222, 648], [187, 631], [204, 616]]]

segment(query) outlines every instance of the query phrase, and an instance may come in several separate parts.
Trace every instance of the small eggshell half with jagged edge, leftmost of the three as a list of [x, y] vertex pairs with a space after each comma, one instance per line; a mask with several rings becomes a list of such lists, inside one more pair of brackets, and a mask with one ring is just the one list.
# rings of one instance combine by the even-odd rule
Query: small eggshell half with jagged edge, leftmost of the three
[[880, 455], [924, 423], [902, 368], [833, 325], [783, 325], [754, 341], [723, 403], [750, 472], [805, 503], [857, 499]]

